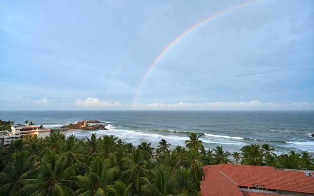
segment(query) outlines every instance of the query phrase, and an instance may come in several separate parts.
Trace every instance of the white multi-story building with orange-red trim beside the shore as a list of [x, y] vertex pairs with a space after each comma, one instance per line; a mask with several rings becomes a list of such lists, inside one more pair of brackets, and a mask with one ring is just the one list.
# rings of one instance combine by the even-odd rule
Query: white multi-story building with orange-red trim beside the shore
[[0, 145], [8, 145], [13, 140], [23, 138], [26, 135], [36, 135], [40, 138], [44, 138], [50, 134], [50, 129], [43, 129], [36, 125], [31, 125], [26, 123], [25, 125], [14, 125], [11, 126], [10, 131], [1, 131], [0, 132]]

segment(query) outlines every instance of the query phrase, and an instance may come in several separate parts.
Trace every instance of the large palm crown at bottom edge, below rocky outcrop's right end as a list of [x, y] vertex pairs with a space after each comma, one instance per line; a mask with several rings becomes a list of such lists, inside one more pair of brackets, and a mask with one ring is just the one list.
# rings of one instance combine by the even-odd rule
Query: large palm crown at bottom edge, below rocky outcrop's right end
[[118, 173], [118, 167], [111, 167], [108, 159], [104, 161], [96, 157], [84, 176], [73, 177], [78, 186], [73, 196], [104, 196], [107, 190], [111, 190], [108, 185], [114, 182]]

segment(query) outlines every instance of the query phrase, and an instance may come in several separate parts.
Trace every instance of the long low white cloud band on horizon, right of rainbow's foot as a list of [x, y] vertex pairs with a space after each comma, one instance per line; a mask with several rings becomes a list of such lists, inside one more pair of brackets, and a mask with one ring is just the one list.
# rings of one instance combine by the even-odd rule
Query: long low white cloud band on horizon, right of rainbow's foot
[[234, 108], [234, 107], [259, 107], [262, 106], [262, 102], [258, 100], [252, 100], [248, 102], [206, 102], [206, 103], [151, 103], [151, 104], [135, 104], [135, 108]]

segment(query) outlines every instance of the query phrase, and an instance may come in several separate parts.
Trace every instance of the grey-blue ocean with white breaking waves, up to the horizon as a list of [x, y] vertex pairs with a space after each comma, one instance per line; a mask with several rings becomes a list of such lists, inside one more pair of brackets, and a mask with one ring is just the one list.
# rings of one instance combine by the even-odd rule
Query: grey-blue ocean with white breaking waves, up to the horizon
[[125, 143], [165, 139], [174, 148], [185, 146], [190, 132], [201, 135], [204, 147], [223, 146], [230, 152], [250, 144], [267, 143], [276, 153], [314, 153], [314, 111], [0, 111], [0, 119], [32, 121], [58, 128], [81, 120], [99, 120], [109, 129], [67, 133], [85, 139], [90, 134], [114, 135]]

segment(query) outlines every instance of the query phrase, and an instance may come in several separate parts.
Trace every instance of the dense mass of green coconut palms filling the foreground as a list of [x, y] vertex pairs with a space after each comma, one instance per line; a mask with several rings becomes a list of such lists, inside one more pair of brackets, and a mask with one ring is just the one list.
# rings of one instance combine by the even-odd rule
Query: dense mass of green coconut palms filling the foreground
[[5, 196], [197, 196], [204, 165], [236, 163], [313, 169], [307, 153], [277, 156], [268, 145], [250, 145], [230, 154], [223, 147], [205, 150], [196, 133], [186, 148], [138, 147], [113, 136], [78, 140], [51, 133], [26, 137], [0, 149], [0, 195]]

